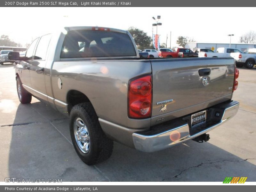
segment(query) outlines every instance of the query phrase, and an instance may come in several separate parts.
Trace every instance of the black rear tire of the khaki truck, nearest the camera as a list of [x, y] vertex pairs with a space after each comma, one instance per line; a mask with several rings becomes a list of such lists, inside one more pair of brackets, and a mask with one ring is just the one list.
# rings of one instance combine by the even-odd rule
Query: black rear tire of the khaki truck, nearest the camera
[[[77, 141], [78, 136], [75, 136], [75, 131], [78, 130], [78, 126], [76, 126], [78, 119], [85, 125], [84, 127], [87, 129], [87, 136], [89, 136], [89, 149], [87, 152], [83, 152], [79, 148], [78, 143], [80, 142], [80, 144], [83, 145], [83, 142]], [[97, 164], [107, 160], [111, 156], [113, 151], [113, 140], [108, 139], [102, 131], [98, 116], [90, 102], [75, 105], [71, 109], [69, 130], [76, 153], [85, 164]]]

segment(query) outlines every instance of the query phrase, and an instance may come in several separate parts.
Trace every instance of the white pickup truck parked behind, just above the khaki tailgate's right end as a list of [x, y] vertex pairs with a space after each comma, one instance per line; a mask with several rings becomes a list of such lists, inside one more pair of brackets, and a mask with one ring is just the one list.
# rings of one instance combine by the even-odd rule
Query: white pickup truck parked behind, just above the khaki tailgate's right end
[[199, 52], [198, 57], [231, 57], [231, 53], [242, 53], [240, 50], [230, 47], [220, 47], [216, 52]]

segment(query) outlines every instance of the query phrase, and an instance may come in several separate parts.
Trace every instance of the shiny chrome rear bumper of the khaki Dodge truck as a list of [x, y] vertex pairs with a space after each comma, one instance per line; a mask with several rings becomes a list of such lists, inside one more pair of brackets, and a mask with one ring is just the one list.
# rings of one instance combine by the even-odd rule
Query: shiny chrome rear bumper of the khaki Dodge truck
[[235, 116], [239, 108], [239, 102], [232, 101], [228, 104], [225, 104], [223, 108], [224, 113], [219, 123], [213, 124], [206, 129], [197, 132], [196, 134], [189, 134], [189, 125], [186, 123], [170, 130], [155, 133], [152, 135], [145, 132], [135, 132], [132, 134], [133, 144], [137, 150], [144, 152], [154, 152], [172, 147], [187, 140], [191, 140], [198, 137], [199, 135], [211, 131], [212, 129], [220, 126], [221, 124]]

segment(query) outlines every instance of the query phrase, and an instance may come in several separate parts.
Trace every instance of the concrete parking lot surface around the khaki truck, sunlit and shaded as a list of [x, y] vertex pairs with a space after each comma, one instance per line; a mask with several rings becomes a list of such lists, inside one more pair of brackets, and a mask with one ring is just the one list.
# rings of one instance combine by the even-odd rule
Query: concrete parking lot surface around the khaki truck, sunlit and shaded
[[256, 181], [256, 68], [239, 68], [237, 115], [209, 132], [204, 143], [188, 141], [155, 153], [114, 143], [105, 162], [84, 164], [71, 143], [69, 120], [32, 97], [19, 102], [14, 65], [0, 67], [0, 181]]

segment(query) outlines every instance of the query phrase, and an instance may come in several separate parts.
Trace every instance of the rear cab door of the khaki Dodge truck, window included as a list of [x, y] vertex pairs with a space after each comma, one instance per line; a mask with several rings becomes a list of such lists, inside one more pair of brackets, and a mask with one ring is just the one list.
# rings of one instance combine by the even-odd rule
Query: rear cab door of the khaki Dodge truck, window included
[[40, 38], [36, 47], [34, 59], [30, 62], [30, 80], [34, 92], [33, 94], [43, 100], [47, 100], [44, 68], [47, 62], [46, 55], [51, 36], [51, 34], [47, 34]]

